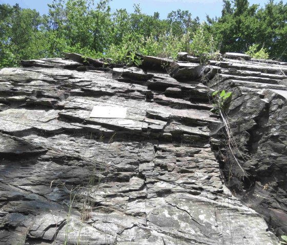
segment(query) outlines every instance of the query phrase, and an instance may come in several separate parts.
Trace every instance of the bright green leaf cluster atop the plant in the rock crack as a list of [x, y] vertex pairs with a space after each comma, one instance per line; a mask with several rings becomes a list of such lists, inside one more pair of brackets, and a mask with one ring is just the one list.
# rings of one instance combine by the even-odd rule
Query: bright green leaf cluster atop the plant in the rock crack
[[[226, 110], [230, 106], [230, 102], [232, 99], [232, 92], [226, 93], [225, 90], [222, 90], [219, 94], [219, 91], [215, 91], [212, 93], [212, 99], [213, 99], [213, 107], [210, 111], [214, 114], [222, 114], [223, 112], [226, 112]], [[221, 112], [221, 113], [220, 113]]]

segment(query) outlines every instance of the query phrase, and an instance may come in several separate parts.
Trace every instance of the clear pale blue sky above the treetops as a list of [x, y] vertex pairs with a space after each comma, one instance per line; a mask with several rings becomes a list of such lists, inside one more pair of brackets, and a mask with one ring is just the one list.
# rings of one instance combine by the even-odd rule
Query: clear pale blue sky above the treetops
[[[48, 13], [47, 4], [52, 2], [52, 0], [0, 0], [0, 4], [18, 3], [22, 8], [36, 9], [41, 14]], [[269, 1], [249, 0], [250, 4], [260, 4], [261, 7], [267, 2]], [[278, 3], [279, 0], [274, 2]], [[200, 20], [206, 20], [206, 14], [214, 18], [221, 15], [222, 9], [222, 0], [113, 0], [110, 6], [112, 11], [122, 8], [133, 12], [133, 4], [140, 4], [142, 12], [149, 15], [159, 12], [160, 18], [166, 18], [171, 11], [181, 9], [189, 10], [194, 18], [198, 16]]]

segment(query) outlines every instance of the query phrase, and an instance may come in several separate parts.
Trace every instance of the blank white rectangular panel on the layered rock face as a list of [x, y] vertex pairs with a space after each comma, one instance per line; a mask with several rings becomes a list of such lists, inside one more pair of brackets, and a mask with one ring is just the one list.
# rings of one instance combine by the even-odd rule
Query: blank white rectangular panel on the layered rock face
[[90, 118], [126, 118], [127, 108], [95, 105]]

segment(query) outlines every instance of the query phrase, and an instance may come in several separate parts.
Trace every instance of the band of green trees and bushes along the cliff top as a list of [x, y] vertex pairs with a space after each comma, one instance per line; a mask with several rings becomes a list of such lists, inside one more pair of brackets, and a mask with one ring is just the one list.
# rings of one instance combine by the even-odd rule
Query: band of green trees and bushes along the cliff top
[[201, 24], [188, 10], [160, 19], [158, 12], [142, 13], [139, 5], [133, 13], [112, 13], [109, 2], [54, 0], [43, 16], [17, 4], [0, 5], [0, 68], [62, 52], [126, 62], [129, 51], [173, 58], [186, 51], [202, 61], [216, 51], [264, 51], [263, 58], [287, 60], [287, 4], [282, 1], [259, 8], [248, 0], [223, 0], [221, 17], [207, 16]]

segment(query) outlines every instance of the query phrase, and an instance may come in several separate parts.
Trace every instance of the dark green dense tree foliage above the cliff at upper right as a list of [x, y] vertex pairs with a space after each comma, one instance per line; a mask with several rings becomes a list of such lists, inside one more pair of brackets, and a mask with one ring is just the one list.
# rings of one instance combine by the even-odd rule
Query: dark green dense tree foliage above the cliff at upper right
[[244, 53], [256, 43], [265, 48], [259, 51], [263, 56], [268, 52], [273, 59], [287, 60], [287, 4], [283, 1], [270, 0], [262, 7], [247, 0], [224, 0], [222, 16], [210, 24], [210, 32], [221, 43], [220, 52]]

